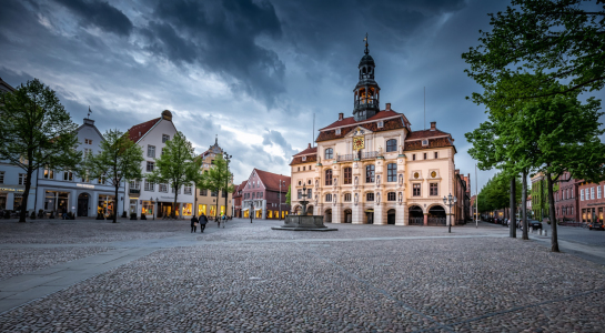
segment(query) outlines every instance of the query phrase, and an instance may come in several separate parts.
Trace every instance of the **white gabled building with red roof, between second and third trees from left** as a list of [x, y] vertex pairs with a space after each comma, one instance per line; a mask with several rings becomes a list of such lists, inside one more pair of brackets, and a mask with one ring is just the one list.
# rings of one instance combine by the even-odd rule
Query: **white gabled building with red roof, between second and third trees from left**
[[[133, 125], [129, 130], [132, 141], [143, 149], [144, 161], [142, 163], [143, 176], [153, 171], [155, 158], [159, 158], [165, 147], [165, 142], [177, 134], [177, 128], [172, 123], [172, 113], [162, 111], [160, 118]], [[194, 186], [181, 186], [178, 189], [177, 211], [180, 216], [191, 216], [193, 213]], [[168, 184], [154, 184], [147, 179], [132, 181], [129, 185], [129, 213], [137, 213], [137, 218], [145, 214], [147, 219], [170, 215], [174, 203], [174, 189]]]

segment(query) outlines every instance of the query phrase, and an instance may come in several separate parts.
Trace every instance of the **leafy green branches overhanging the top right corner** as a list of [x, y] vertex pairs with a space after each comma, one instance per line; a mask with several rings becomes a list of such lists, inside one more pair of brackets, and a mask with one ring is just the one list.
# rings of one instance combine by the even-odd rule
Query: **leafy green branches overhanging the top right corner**
[[[480, 46], [462, 54], [471, 64], [466, 73], [484, 89], [513, 74], [546, 73], [538, 81], [527, 80], [515, 85], [507, 94], [510, 99], [602, 89], [605, 84], [605, 4], [596, 10], [583, 6], [589, 2], [513, 0], [504, 12], [490, 13], [492, 31], [480, 30]], [[540, 89], [561, 80], [568, 83], [548, 92]], [[497, 95], [473, 94], [473, 98]]]

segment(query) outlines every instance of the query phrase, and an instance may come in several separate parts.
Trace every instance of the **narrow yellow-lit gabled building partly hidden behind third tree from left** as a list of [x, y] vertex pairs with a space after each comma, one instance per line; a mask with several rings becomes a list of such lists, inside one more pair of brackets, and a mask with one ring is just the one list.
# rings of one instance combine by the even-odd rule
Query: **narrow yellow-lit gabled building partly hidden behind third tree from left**
[[[212, 162], [216, 159], [216, 155], [223, 154], [223, 150], [219, 147], [218, 140], [205, 152], [200, 154], [203, 160], [201, 172], [212, 168]], [[233, 180], [230, 180], [230, 184]], [[233, 193], [216, 193], [210, 190], [196, 189], [195, 205], [198, 206], [198, 216], [204, 213], [208, 216], [221, 216], [226, 214], [232, 216]], [[225, 206], [226, 199], [226, 206]], [[216, 204], [218, 203], [218, 204]], [[218, 214], [216, 214], [218, 213]]]

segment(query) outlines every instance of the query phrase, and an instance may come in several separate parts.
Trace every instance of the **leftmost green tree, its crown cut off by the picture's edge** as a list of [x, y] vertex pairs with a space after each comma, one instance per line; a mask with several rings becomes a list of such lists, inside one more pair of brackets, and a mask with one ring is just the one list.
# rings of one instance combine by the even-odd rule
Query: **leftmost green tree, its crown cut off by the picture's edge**
[[19, 222], [26, 222], [31, 176], [39, 168], [74, 170], [77, 125], [54, 91], [38, 79], [0, 97], [0, 159], [26, 172]]

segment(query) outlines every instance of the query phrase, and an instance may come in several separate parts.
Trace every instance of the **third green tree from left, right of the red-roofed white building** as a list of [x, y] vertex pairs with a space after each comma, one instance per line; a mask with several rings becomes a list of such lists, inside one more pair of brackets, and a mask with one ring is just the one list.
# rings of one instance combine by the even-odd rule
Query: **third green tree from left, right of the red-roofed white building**
[[173, 189], [172, 218], [175, 216], [181, 186], [191, 186], [198, 181], [201, 163], [202, 161], [194, 155], [193, 145], [186, 141], [182, 132], [178, 132], [174, 138], [167, 141], [160, 158], [155, 159], [155, 168], [147, 179], [154, 183], [165, 183]]

